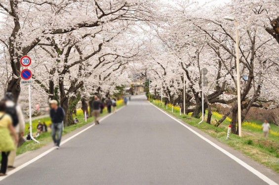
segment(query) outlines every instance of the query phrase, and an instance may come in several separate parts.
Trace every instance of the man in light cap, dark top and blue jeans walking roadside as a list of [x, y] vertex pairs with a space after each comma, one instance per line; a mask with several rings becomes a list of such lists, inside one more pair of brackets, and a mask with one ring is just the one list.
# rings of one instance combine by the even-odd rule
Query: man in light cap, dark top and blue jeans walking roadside
[[56, 149], [59, 149], [63, 132], [63, 119], [65, 112], [62, 107], [58, 106], [56, 100], [50, 101], [50, 118], [51, 118], [51, 136]]

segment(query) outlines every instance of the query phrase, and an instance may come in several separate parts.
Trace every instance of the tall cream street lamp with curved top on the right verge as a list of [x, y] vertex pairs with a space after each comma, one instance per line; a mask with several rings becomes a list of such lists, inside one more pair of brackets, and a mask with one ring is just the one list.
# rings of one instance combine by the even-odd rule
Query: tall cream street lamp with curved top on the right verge
[[239, 137], [242, 135], [241, 129], [241, 94], [240, 94], [240, 73], [239, 73], [239, 22], [234, 17], [226, 16], [225, 20], [235, 21], [236, 24], [236, 50], [237, 50], [237, 89], [238, 89], [238, 117], [239, 117]]

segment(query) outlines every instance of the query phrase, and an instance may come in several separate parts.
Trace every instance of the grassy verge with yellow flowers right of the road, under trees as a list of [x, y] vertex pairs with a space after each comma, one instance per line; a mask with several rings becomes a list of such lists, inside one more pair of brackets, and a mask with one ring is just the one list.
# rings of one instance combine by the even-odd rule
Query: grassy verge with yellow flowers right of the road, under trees
[[[187, 122], [188, 124], [195, 126], [210, 136], [216, 138], [221, 143], [241, 151], [243, 154], [251, 157], [255, 161], [264, 164], [265, 166], [273, 169], [276, 173], [279, 173], [279, 127], [271, 123], [271, 133], [269, 138], [265, 139], [261, 131], [262, 123], [259, 121], [244, 121], [242, 123], [242, 137], [231, 134], [227, 140], [228, 125], [231, 119], [228, 117], [219, 127], [215, 127], [213, 124], [215, 120], [218, 120], [222, 115], [218, 112], [213, 112], [211, 118], [211, 124], [202, 122], [198, 124], [200, 119], [191, 117], [191, 115], [184, 115], [179, 113], [179, 108], [174, 107], [171, 111], [171, 105], [168, 105], [168, 109], [160, 105], [160, 101], [151, 101], [154, 105], [163, 109], [164, 111], [174, 115], [175, 117]], [[206, 117], [206, 115], [205, 115]], [[206, 119], [205, 119], [206, 120]]]

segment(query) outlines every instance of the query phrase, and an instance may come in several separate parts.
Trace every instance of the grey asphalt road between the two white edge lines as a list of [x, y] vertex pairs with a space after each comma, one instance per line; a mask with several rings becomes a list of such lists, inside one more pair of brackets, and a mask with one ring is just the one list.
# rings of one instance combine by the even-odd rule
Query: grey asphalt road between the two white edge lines
[[266, 185], [144, 96], [0, 185]]

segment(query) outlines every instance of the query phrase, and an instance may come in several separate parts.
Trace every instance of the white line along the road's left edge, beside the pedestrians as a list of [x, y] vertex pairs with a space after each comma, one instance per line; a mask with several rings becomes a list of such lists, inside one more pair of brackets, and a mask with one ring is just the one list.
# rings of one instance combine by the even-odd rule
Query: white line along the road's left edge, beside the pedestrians
[[[125, 106], [121, 107], [120, 109], [118, 109], [117, 111], [120, 111], [121, 109], [123, 109]], [[107, 117], [111, 116], [111, 115], [114, 115], [114, 113], [110, 113], [108, 115], [106, 115], [105, 117], [103, 117], [102, 119], [100, 119], [100, 122], [103, 121], [104, 119], [106, 119]], [[70, 138], [67, 138], [66, 140], [64, 140], [63, 142], [61, 142], [60, 146], [67, 143], [68, 141], [70, 141], [71, 139], [77, 137], [78, 135], [80, 135], [82, 132], [88, 130], [89, 128], [93, 127], [95, 124], [92, 124], [90, 126], [88, 126], [87, 128], [81, 130], [80, 132], [78, 132], [77, 134], [71, 136]], [[19, 167], [15, 168], [14, 170], [11, 170], [7, 173], [6, 176], [2, 176], [0, 177], [0, 181], [6, 179], [7, 177], [9, 177], [10, 175], [18, 172], [19, 170], [25, 168], [26, 166], [28, 166], [29, 164], [32, 164], [33, 162], [37, 161], [38, 159], [42, 158], [43, 156], [45, 156], [46, 154], [50, 153], [51, 151], [55, 150], [56, 148], [53, 147], [53, 148], [50, 148], [48, 150], [46, 150], [45, 152], [41, 153], [40, 155], [38, 155], [37, 157], [33, 158], [32, 160], [20, 165]]]

